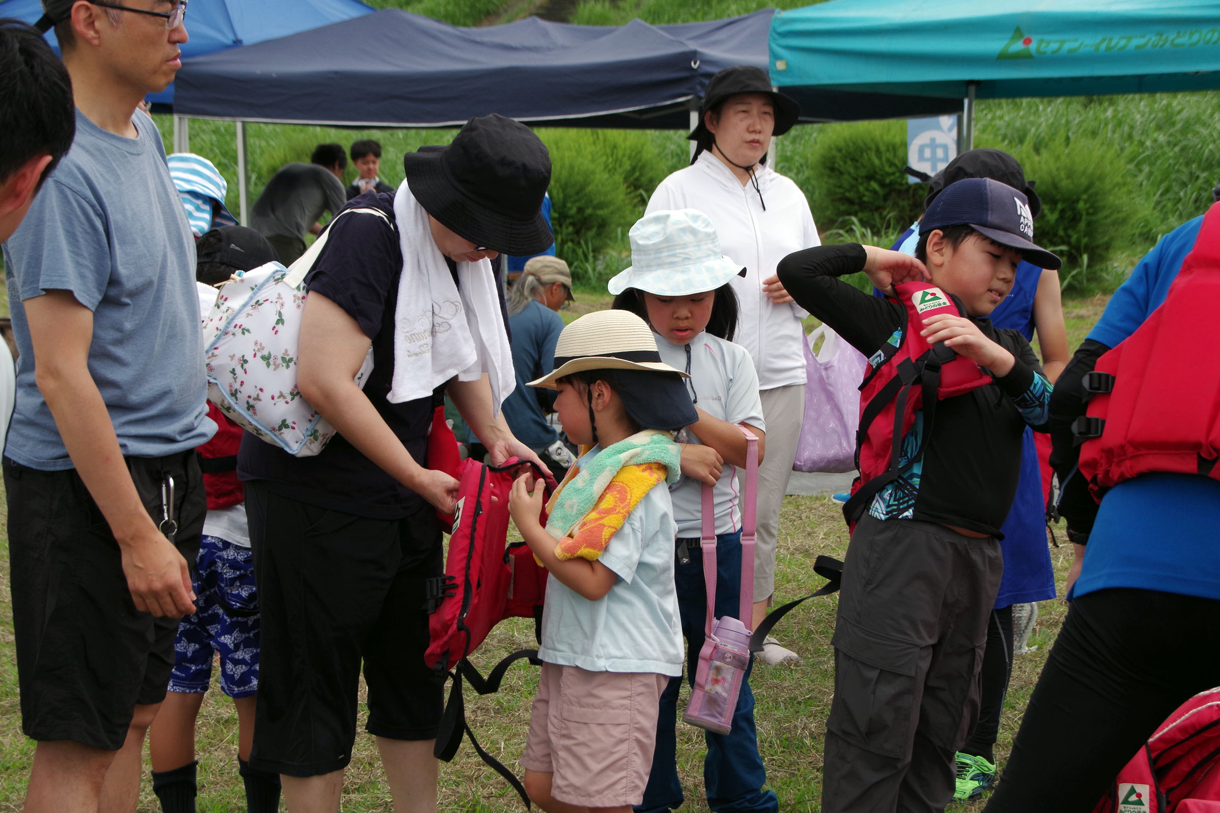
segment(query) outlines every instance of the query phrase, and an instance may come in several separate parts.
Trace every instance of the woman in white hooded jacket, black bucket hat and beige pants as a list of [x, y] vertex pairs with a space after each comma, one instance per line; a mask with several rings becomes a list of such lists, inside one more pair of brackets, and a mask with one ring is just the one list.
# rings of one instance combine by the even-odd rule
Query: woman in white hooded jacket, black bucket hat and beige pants
[[[775, 275], [787, 254], [820, 245], [804, 194], [765, 163], [767, 146], [795, 123], [795, 101], [771, 89], [764, 69], [738, 65], [711, 78], [704, 93], [691, 166], [661, 182], [648, 212], [697, 208], [711, 218], [723, 252], [745, 264], [733, 278], [739, 302], [733, 341], [758, 369], [767, 428], [767, 455], [759, 466], [758, 547], [754, 566], [754, 625], [775, 592], [780, 506], [797, 452], [805, 405], [808, 313]], [[759, 659], [795, 661], [797, 653], [767, 639]]]

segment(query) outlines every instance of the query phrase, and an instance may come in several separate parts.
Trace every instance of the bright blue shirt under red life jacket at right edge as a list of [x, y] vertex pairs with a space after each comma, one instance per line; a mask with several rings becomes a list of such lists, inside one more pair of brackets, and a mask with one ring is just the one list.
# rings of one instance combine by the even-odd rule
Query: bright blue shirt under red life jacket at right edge
[[[1088, 338], [1113, 347], [1160, 307], [1203, 218], [1166, 234], [1110, 297]], [[1194, 474], [1143, 474], [1110, 489], [1097, 511], [1072, 588], [1141, 588], [1220, 598], [1220, 483]]]

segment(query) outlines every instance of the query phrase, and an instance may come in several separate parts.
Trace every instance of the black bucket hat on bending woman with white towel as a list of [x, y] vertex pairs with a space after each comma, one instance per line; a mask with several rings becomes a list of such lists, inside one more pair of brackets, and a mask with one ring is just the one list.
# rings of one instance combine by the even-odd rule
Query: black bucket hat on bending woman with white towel
[[555, 241], [542, 216], [550, 155], [525, 124], [472, 118], [447, 147], [407, 152], [403, 168], [420, 205], [477, 246], [525, 256]]

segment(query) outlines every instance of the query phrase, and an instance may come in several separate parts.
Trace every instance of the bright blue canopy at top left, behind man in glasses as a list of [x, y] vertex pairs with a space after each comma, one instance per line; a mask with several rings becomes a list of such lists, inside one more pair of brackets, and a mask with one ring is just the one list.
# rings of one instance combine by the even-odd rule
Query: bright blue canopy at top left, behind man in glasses
[[[189, 39], [182, 46], [182, 56], [190, 60], [371, 12], [372, 9], [359, 0], [190, 0], [185, 21]], [[40, 0], [0, 2], [0, 17], [33, 24], [41, 16]], [[59, 51], [55, 33], [48, 32], [46, 38]], [[171, 84], [162, 93], [149, 96], [149, 102], [160, 106], [157, 112], [171, 112], [173, 91]]]

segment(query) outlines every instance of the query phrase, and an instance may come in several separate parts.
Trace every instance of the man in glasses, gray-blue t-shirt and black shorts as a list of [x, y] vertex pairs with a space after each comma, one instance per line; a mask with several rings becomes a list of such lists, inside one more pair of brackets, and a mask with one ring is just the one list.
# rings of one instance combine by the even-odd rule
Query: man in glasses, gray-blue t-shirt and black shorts
[[152, 119], [185, 4], [44, 0], [76, 140], [5, 244], [21, 350], [4, 479], [27, 812], [134, 809], [194, 612], [205, 410], [194, 241]]

